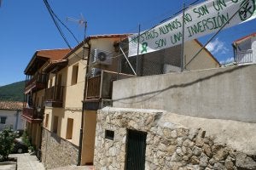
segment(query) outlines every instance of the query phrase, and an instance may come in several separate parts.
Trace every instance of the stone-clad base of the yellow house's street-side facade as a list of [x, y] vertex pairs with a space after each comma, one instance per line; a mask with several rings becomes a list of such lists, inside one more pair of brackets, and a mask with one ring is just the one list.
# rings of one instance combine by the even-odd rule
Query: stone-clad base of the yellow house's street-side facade
[[79, 147], [43, 129], [42, 162], [46, 169], [77, 165]]

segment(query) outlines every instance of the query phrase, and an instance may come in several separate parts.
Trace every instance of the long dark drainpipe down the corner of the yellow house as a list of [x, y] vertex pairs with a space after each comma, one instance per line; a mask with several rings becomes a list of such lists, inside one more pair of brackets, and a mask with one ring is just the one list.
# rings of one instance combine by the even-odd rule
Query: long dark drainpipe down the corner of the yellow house
[[[87, 82], [88, 82], [88, 77], [86, 76], [89, 71], [89, 61], [90, 61], [90, 39], [84, 39], [84, 41], [87, 41], [86, 43], [88, 44], [88, 57], [87, 57], [87, 63], [86, 63], [86, 72], [85, 72], [85, 81], [84, 81], [84, 99], [86, 97], [86, 92], [87, 92]], [[84, 48], [84, 46], [83, 46]], [[84, 49], [83, 49], [84, 50]], [[79, 136], [79, 157], [78, 157], [78, 166], [81, 166], [81, 158], [82, 158], [82, 144], [83, 144], [83, 129], [84, 129], [84, 100], [82, 101], [82, 119], [81, 119], [81, 128], [80, 128], [80, 136]]]

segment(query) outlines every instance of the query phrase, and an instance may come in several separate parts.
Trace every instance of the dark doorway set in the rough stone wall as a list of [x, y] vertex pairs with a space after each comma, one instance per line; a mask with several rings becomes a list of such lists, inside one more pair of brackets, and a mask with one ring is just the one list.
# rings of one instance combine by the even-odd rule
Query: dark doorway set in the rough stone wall
[[128, 129], [126, 148], [126, 170], [145, 169], [147, 133]]

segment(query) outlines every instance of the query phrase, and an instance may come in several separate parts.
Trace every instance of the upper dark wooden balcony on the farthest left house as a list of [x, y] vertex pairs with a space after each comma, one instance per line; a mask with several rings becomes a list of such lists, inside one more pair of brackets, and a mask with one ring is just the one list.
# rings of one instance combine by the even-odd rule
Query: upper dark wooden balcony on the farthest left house
[[38, 73], [32, 79], [26, 82], [25, 86], [25, 94], [30, 92], [31, 90], [41, 90], [45, 88], [45, 84], [47, 82], [48, 75]]

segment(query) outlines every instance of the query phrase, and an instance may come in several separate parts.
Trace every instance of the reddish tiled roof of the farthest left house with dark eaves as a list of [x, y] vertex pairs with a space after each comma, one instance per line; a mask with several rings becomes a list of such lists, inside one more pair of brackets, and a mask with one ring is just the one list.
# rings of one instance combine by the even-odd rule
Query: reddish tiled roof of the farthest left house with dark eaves
[[[29, 73], [32, 69], [32, 66], [38, 61], [41, 63], [40, 66], [44, 65], [46, 61], [54, 61], [64, 58], [71, 49], [64, 48], [64, 49], [43, 49], [38, 50], [35, 54], [33, 54], [32, 59], [28, 63], [25, 69], [25, 73]], [[38, 68], [36, 68], [38, 70]]]

